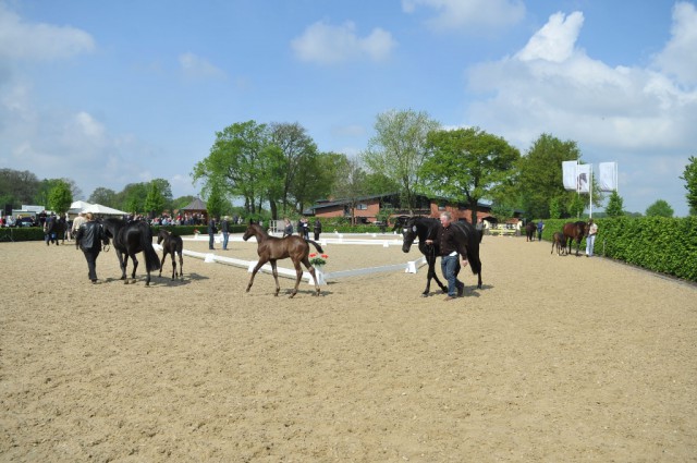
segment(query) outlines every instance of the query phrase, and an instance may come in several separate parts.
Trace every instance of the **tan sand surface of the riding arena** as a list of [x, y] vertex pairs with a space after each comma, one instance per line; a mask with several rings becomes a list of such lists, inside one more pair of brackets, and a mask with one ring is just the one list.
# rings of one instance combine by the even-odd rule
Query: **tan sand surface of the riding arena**
[[191, 257], [146, 288], [102, 253], [93, 285], [72, 244], [0, 243], [0, 461], [697, 461], [697, 289], [550, 248], [485, 236], [484, 288], [445, 303], [425, 268], [291, 300]]

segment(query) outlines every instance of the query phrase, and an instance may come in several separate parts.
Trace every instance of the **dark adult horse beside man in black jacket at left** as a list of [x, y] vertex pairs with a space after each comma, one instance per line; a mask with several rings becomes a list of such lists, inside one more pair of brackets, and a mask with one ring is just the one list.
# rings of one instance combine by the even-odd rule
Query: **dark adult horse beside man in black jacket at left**
[[129, 284], [126, 266], [129, 265], [129, 257], [131, 257], [133, 260], [131, 279], [132, 282], [135, 283], [135, 270], [138, 268], [138, 260], [135, 258], [135, 255], [143, 252], [145, 256], [145, 268], [148, 273], [145, 285], [149, 285], [150, 272], [160, 269], [160, 258], [152, 247], [152, 231], [150, 230], [150, 226], [139, 220], [126, 223], [121, 219], [113, 218], [102, 219], [101, 224], [107, 232], [107, 236], [113, 242], [113, 248], [117, 251], [119, 265], [123, 272], [121, 279]]

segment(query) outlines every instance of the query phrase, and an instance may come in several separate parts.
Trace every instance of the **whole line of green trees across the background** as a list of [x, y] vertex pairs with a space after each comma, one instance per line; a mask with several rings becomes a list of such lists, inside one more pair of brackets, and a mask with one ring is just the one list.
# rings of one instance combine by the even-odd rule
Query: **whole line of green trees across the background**
[[[357, 156], [320, 151], [298, 123], [233, 123], [216, 133], [207, 157], [191, 172], [201, 184], [209, 214], [279, 219], [302, 214], [318, 199], [347, 202], [351, 209], [364, 196], [396, 194], [403, 209], [416, 208], [418, 195], [467, 205], [476, 220], [477, 204], [492, 204], [500, 218], [514, 210], [536, 219], [579, 217], [585, 196], [564, 190], [562, 161], [583, 163], [576, 142], [543, 133], [521, 154], [503, 137], [479, 127], [450, 130], [424, 111], [391, 110], [376, 118], [375, 134]], [[697, 161], [683, 173], [690, 214], [697, 210]], [[606, 195], [592, 184], [594, 205]], [[0, 204], [65, 203], [81, 194], [69, 179], [39, 181], [30, 172], [0, 170]], [[68, 194], [68, 192], [70, 194]], [[121, 192], [99, 187], [88, 202], [130, 212], [161, 214], [194, 198], [172, 198], [167, 180], [132, 183]], [[235, 207], [235, 203], [242, 206]], [[63, 206], [61, 206], [63, 207]], [[622, 197], [613, 192], [604, 215], [622, 216]], [[647, 215], [671, 217], [657, 199]]]

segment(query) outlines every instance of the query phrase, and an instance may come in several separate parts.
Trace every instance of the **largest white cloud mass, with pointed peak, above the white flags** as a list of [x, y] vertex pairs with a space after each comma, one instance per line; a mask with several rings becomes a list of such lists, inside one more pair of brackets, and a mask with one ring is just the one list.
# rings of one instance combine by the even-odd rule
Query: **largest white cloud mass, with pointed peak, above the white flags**
[[467, 122], [523, 151], [542, 133], [575, 141], [587, 162], [620, 162], [628, 210], [662, 198], [684, 215], [678, 176], [697, 146], [697, 24], [686, 27], [688, 19], [694, 8], [678, 3], [673, 38], [641, 68], [590, 58], [576, 46], [583, 14], [553, 14], [513, 57], [468, 70], [469, 89], [486, 99], [468, 107]]

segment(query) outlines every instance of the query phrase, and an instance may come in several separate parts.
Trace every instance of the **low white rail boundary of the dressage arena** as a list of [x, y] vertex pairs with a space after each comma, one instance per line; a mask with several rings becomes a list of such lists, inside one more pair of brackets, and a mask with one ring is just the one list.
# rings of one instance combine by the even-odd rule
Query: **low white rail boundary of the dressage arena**
[[[367, 234], [371, 237], [377, 237], [377, 233], [367, 233]], [[382, 247], [389, 247], [390, 245], [392, 246], [402, 245], [402, 241], [396, 239], [391, 239], [391, 240], [363, 239], [362, 240], [358, 237], [358, 236], [365, 236], [365, 235], [366, 233], [355, 233], [355, 234], [351, 234], [352, 236], [351, 239], [345, 239], [344, 237], [345, 235], [343, 233], [334, 232], [335, 237], [321, 239], [319, 240], [319, 244], [321, 246], [327, 246], [328, 244], [347, 244], [347, 245], [374, 245], [374, 246], [379, 245]], [[398, 236], [401, 237], [401, 235], [398, 235]], [[203, 235], [203, 236], [198, 235], [196, 237], [182, 236], [182, 240], [207, 242], [208, 235]], [[216, 243], [222, 243], [222, 236], [216, 235], [215, 241]], [[228, 241], [243, 242], [242, 236], [230, 236]], [[249, 239], [249, 241], [256, 242], [254, 237]], [[152, 244], [152, 246], [157, 251], [162, 251], [162, 246], [159, 244]], [[209, 263], [209, 264], [218, 263], [218, 264], [231, 265], [233, 267], [246, 268], [248, 272], [252, 272], [254, 270], [254, 267], [258, 263], [258, 260], [244, 260], [244, 259], [237, 259], [234, 257], [223, 257], [213, 253], [199, 253], [196, 251], [188, 251], [186, 248], [183, 249], [183, 254], [185, 256], [203, 259], [205, 263]], [[404, 271], [405, 273], [416, 273], [418, 269], [424, 265], [426, 265], [426, 257], [421, 256], [416, 260], [409, 260], [404, 264], [394, 264], [394, 265], [380, 266], [380, 267], [357, 268], [357, 269], [351, 269], [351, 270], [338, 270], [332, 272], [325, 272], [321, 269], [315, 268], [315, 271], [316, 273], [318, 273], [319, 283], [326, 284], [327, 281], [335, 281], [341, 278], [357, 277], [360, 275], [369, 275], [369, 273], [380, 273], [386, 271]], [[296, 278], [296, 273], [294, 269], [290, 269], [281, 266], [277, 266], [277, 269], [278, 269], [279, 276], [281, 277], [286, 277], [291, 279]], [[259, 271], [271, 273], [273, 270], [271, 269], [270, 264], [266, 264], [259, 269]], [[313, 276], [309, 273], [309, 271], [303, 270], [303, 279], [306, 279], [309, 284], [314, 284]]]

